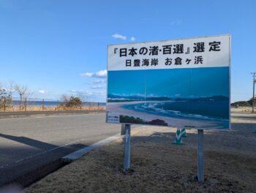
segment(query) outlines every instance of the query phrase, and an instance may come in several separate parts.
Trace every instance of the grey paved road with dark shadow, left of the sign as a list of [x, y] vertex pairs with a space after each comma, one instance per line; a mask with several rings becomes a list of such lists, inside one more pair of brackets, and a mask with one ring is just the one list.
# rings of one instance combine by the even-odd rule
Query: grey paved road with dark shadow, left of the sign
[[103, 113], [0, 119], [0, 185], [118, 132]]

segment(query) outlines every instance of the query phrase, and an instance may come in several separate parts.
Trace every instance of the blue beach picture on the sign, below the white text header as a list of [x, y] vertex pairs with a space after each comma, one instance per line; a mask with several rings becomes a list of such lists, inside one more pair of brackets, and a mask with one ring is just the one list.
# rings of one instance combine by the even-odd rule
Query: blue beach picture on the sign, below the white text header
[[226, 66], [109, 71], [107, 121], [227, 130], [228, 77]]

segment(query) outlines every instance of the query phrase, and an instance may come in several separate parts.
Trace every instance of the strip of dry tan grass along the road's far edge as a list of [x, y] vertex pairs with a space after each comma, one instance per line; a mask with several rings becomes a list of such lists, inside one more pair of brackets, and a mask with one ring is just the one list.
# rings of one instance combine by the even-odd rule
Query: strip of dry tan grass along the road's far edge
[[19, 111], [67, 111], [67, 110], [105, 110], [105, 106], [91, 106], [91, 107], [42, 107], [42, 106], [28, 106], [22, 107], [12, 106], [0, 109], [0, 112], [19, 112]]

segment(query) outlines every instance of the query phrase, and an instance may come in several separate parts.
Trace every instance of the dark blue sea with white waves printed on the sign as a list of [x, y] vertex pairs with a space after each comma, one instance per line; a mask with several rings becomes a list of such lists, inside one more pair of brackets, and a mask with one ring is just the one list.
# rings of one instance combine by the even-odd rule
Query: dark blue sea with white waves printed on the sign
[[228, 120], [228, 101], [168, 101], [168, 102], [142, 102], [139, 104], [124, 105], [124, 108], [158, 116], [172, 118], [195, 118]]

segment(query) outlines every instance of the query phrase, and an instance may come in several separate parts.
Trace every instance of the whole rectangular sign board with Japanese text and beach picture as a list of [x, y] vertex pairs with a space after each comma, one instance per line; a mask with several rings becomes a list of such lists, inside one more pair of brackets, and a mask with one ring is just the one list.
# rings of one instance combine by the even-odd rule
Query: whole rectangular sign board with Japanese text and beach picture
[[230, 36], [108, 46], [108, 123], [230, 127]]

